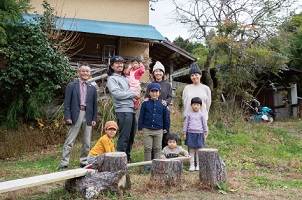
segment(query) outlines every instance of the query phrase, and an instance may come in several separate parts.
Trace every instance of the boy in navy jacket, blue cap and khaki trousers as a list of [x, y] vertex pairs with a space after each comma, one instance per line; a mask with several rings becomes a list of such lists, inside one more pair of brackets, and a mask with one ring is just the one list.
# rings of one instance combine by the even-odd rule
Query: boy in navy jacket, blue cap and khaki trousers
[[[150, 83], [148, 86], [150, 98], [144, 101], [138, 119], [138, 133], [143, 135], [145, 161], [151, 160], [151, 151], [154, 150], [154, 158], [160, 159], [162, 150], [162, 137], [169, 131], [169, 114], [167, 106], [159, 99], [160, 85]], [[145, 171], [150, 170], [146, 166]]]

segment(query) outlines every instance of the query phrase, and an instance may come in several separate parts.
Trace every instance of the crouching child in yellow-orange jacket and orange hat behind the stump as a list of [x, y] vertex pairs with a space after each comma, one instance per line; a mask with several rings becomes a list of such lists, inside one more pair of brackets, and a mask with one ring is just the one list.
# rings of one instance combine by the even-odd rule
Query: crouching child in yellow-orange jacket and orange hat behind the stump
[[94, 147], [90, 150], [87, 161], [92, 164], [95, 157], [103, 153], [115, 152], [114, 141], [112, 138], [116, 135], [118, 130], [117, 123], [115, 121], [108, 121], [104, 126], [104, 135], [98, 140]]

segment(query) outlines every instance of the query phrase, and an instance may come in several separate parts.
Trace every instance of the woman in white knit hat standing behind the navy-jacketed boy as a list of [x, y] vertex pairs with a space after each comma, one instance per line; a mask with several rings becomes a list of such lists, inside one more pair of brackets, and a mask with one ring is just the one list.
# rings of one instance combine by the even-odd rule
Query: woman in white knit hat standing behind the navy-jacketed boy
[[[161, 62], [156, 61], [155, 65], [153, 66], [152, 74], [153, 74], [153, 79], [154, 79], [154, 81], [152, 83], [158, 83], [161, 87], [161, 93], [159, 95], [159, 99], [162, 100], [162, 104], [164, 106], [170, 105], [172, 103], [172, 87], [169, 82], [164, 80], [165, 67], [163, 66], [163, 64], [161, 64]], [[148, 101], [148, 99], [150, 98], [150, 95], [149, 95], [150, 91], [148, 88], [149, 87], [147, 87], [144, 101]], [[169, 114], [169, 124], [170, 124], [170, 114]], [[164, 148], [165, 146], [168, 145], [166, 136], [167, 136], [167, 134], [163, 135], [162, 148]], [[153, 153], [152, 153], [152, 155], [153, 155]]]

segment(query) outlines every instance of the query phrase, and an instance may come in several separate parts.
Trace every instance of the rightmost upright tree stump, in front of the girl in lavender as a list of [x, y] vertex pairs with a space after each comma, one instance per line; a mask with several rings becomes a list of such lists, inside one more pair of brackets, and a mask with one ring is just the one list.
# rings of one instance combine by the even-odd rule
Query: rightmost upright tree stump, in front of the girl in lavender
[[217, 149], [204, 148], [198, 151], [199, 179], [202, 185], [211, 188], [226, 182], [226, 168]]

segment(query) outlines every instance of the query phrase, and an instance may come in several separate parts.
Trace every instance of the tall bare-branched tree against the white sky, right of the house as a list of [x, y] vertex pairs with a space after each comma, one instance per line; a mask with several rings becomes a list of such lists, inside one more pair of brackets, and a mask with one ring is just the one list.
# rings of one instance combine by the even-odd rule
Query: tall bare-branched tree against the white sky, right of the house
[[[213, 91], [210, 66], [217, 57], [221, 42], [217, 37], [236, 38], [244, 45], [260, 45], [264, 39], [276, 34], [277, 25], [289, 16], [295, 0], [172, 0], [175, 5], [176, 20], [187, 24], [193, 37], [202, 39], [209, 53], [205, 62], [205, 74], [208, 86]], [[236, 28], [236, 29], [234, 29]], [[234, 31], [236, 30], [236, 31]], [[235, 35], [234, 35], [235, 34]], [[230, 46], [225, 45], [227, 50]], [[228, 49], [230, 51], [232, 48]], [[239, 49], [237, 49], [239, 50]], [[234, 55], [234, 54], [230, 54]], [[216, 62], [217, 59], [214, 59]], [[232, 65], [232, 56], [229, 64]]]

